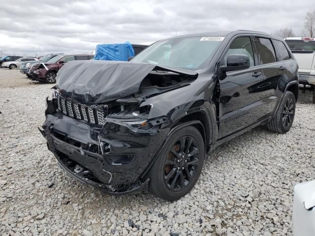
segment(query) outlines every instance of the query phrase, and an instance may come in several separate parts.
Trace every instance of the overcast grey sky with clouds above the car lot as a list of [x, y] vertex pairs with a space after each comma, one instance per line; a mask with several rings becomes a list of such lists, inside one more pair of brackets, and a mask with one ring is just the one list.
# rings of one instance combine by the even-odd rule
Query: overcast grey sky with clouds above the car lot
[[303, 29], [315, 0], [1, 0], [0, 51], [92, 52], [191, 32]]

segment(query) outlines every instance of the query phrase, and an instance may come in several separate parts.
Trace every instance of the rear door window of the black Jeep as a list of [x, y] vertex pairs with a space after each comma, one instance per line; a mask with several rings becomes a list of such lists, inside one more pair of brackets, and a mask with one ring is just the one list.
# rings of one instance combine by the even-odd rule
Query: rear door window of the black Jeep
[[270, 39], [254, 38], [259, 65], [276, 62], [276, 54]]

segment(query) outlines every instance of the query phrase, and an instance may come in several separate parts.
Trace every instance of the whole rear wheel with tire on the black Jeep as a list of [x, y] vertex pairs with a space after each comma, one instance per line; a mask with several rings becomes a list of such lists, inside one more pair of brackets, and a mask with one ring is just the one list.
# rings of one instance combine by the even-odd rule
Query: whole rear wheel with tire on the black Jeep
[[272, 118], [267, 127], [272, 132], [284, 134], [290, 130], [295, 115], [295, 96], [286, 91], [277, 114]]

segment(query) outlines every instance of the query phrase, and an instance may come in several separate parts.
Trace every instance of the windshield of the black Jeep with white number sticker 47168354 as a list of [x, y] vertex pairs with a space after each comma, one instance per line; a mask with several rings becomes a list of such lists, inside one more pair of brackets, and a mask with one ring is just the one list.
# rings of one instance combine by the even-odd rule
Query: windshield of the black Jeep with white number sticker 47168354
[[131, 61], [197, 70], [204, 63], [209, 63], [223, 39], [224, 37], [185, 37], [161, 40]]

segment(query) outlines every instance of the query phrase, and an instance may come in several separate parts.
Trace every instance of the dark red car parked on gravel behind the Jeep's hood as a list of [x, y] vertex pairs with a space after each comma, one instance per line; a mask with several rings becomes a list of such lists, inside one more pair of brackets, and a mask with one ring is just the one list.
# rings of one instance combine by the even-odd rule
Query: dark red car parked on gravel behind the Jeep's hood
[[27, 76], [31, 80], [37, 80], [43, 83], [56, 83], [57, 72], [63, 65], [70, 60], [90, 60], [92, 54], [62, 54], [58, 55], [47, 62], [33, 64], [27, 71]]

